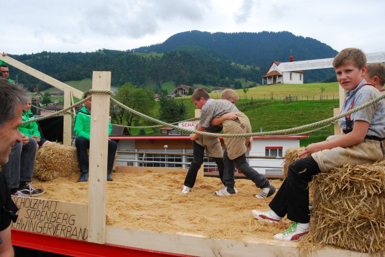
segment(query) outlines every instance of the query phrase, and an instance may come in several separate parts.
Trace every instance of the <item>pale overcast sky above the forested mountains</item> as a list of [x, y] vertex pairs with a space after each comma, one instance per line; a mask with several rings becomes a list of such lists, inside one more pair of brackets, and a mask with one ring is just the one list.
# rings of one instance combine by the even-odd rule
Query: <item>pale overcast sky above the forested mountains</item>
[[383, 0], [15, 0], [0, 51], [127, 50], [188, 31], [290, 31], [336, 50], [385, 51]]

